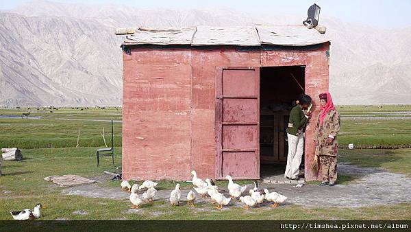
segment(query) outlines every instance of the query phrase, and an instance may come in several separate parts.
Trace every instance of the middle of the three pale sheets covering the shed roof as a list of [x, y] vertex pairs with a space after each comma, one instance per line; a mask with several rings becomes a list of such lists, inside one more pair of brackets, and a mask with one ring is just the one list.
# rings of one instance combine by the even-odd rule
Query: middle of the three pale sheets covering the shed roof
[[260, 40], [254, 26], [245, 27], [210, 27], [198, 26], [192, 39], [192, 46], [201, 45], [237, 45], [260, 46]]

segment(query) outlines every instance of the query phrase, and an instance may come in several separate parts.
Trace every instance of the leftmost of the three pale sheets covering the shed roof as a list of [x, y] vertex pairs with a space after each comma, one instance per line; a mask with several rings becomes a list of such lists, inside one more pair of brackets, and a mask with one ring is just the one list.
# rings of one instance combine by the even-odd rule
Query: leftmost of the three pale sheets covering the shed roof
[[134, 34], [127, 35], [124, 45], [190, 45], [195, 28], [155, 29], [139, 27]]

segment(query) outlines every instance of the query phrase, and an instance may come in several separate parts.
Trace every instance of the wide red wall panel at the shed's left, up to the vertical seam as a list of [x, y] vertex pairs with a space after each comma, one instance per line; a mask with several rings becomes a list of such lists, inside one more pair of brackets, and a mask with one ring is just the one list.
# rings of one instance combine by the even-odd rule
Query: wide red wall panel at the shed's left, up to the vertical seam
[[190, 49], [134, 47], [123, 60], [123, 178], [186, 179]]

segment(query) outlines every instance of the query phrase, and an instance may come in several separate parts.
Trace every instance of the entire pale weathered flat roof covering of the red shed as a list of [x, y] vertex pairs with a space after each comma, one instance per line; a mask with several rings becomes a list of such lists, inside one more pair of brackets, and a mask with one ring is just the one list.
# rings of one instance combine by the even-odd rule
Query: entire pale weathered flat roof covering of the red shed
[[139, 27], [116, 30], [125, 34], [123, 45], [284, 45], [306, 46], [325, 43], [329, 38], [304, 25], [256, 25], [248, 27], [210, 27], [153, 29]]

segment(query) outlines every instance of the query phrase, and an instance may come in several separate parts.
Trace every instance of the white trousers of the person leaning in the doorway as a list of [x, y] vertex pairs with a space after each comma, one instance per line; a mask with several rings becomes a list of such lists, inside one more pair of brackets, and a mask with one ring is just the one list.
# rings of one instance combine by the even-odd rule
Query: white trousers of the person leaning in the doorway
[[288, 137], [288, 155], [287, 155], [287, 167], [284, 173], [284, 178], [296, 178], [299, 172], [299, 165], [304, 152], [304, 137], [303, 133], [299, 136], [290, 135]]

